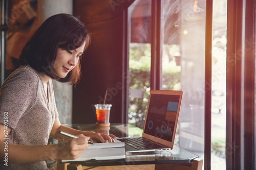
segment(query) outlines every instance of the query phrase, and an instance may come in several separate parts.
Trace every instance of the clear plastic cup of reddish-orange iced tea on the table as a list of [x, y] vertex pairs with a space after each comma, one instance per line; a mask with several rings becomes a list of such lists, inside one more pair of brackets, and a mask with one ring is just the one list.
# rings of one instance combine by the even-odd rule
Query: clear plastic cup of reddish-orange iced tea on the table
[[97, 104], [94, 105], [97, 115], [97, 125], [110, 126], [110, 108], [111, 104]]

